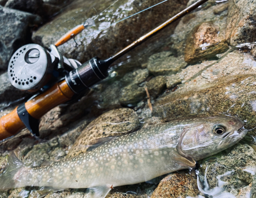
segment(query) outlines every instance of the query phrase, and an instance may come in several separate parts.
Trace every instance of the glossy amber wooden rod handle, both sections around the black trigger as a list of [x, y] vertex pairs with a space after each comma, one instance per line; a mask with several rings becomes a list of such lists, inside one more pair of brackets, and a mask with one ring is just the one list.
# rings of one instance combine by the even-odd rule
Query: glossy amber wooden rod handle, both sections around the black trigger
[[[52, 108], [69, 101], [73, 95], [74, 92], [69, 88], [67, 82], [63, 80], [25, 103], [25, 107], [32, 117], [39, 119]], [[20, 120], [16, 107], [11, 113], [0, 119], [0, 140], [13, 136], [24, 128], [25, 125]]]

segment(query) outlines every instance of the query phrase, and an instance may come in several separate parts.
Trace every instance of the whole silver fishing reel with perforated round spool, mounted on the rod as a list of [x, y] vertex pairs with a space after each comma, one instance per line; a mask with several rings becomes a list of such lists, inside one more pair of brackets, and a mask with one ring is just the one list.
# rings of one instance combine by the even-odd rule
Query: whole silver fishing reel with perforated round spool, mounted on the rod
[[51, 45], [48, 51], [38, 44], [27, 44], [18, 48], [11, 57], [8, 77], [15, 88], [35, 92], [80, 65], [77, 60], [63, 57], [55, 45]]

